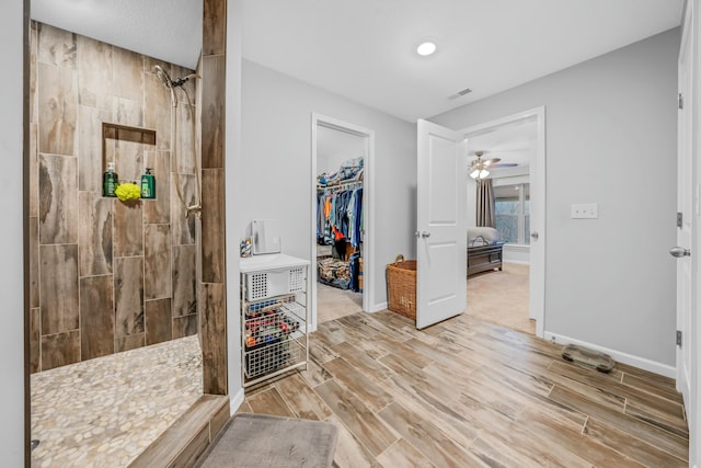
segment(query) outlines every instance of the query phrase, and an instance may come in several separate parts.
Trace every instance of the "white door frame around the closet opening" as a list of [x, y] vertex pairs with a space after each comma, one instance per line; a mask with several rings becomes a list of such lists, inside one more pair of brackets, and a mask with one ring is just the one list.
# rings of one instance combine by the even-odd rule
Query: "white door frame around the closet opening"
[[375, 304], [374, 266], [375, 266], [375, 130], [359, 125], [350, 124], [335, 117], [330, 117], [317, 112], [311, 114], [311, 171], [310, 171], [310, 207], [311, 225], [309, 239], [311, 247], [309, 258], [312, 265], [310, 269], [310, 294], [311, 300], [307, 299], [310, 307], [310, 330], [317, 330], [318, 308], [317, 308], [317, 138], [319, 126], [332, 128], [338, 132], [356, 135], [366, 139], [366, 155], [363, 161], [363, 311], [372, 311]]

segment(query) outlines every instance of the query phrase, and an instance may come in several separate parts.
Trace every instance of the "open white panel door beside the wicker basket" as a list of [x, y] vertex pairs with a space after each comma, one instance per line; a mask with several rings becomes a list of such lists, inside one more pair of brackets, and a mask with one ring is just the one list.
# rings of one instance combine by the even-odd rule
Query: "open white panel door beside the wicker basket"
[[418, 121], [416, 328], [467, 306], [468, 160], [461, 134]]

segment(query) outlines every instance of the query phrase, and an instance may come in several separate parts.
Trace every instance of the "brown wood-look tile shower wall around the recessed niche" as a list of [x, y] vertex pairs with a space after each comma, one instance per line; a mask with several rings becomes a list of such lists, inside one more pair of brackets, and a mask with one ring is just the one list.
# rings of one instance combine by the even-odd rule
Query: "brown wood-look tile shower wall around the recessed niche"
[[[171, 136], [170, 93], [152, 73], [192, 70], [41, 23], [31, 50], [31, 372], [197, 333], [195, 219], [175, 187], [195, 203], [197, 135], [181, 99]], [[102, 196], [103, 122], [156, 129], [156, 146], [106, 148], [120, 180], [153, 168], [156, 199]]]

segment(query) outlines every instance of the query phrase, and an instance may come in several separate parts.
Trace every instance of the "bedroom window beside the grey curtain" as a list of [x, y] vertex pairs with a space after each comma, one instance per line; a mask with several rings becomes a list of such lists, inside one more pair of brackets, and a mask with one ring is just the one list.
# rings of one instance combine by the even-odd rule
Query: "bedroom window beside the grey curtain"
[[496, 185], [494, 187], [496, 230], [508, 243], [530, 243], [530, 184]]

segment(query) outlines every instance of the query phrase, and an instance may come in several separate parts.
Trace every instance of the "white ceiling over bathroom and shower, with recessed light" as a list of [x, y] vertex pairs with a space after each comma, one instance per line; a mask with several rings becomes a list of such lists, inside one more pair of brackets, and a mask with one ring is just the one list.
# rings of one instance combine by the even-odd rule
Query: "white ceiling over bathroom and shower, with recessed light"
[[[202, 0], [31, 0], [32, 16], [194, 68]], [[242, 0], [243, 56], [409, 122], [679, 25], [683, 0]], [[435, 37], [438, 52], [415, 46]], [[449, 99], [466, 88], [472, 93]]]

